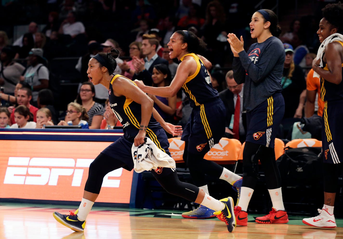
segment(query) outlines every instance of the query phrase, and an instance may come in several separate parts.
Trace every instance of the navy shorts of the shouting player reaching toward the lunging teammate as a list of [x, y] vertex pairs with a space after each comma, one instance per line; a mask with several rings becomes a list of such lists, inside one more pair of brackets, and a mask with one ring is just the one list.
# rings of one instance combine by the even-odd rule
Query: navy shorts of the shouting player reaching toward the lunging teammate
[[224, 136], [225, 106], [221, 99], [193, 108], [181, 140], [188, 141], [188, 152], [204, 154]]

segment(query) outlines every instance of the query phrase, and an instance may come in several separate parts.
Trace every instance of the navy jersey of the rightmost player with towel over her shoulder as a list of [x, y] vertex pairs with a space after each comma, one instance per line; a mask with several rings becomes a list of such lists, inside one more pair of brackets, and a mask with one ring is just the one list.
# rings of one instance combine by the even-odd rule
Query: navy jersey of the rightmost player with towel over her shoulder
[[[337, 41], [341, 43], [343, 46], [342, 41]], [[342, 63], [343, 67], [343, 63]], [[329, 71], [328, 65], [325, 64], [323, 70]], [[343, 77], [343, 69], [342, 69], [342, 77]], [[332, 101], [332, 100], [343, 100], [343, 81], [340, 84], [336, 85], [325, 80], [323, 77], [320, 77], [320, 94], [321, 99], [323, 101]]]

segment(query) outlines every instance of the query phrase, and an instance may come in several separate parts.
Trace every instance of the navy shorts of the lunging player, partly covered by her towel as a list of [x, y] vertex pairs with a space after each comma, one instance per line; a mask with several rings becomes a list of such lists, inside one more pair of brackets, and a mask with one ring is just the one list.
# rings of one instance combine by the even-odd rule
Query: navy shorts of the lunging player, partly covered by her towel
[[[149, 137], [159, 149], [162, 151], [165, 151], [169, 156], [169, 141], [167, 138], [167, 135], [163, 128], [153, 132], [154, 138], [150, 138], [148, 135], [146, 137]], [[133, 159], [131, 154], [131, 147], [133, 144], [133, 139], [128, 140], [125, 138], [125, 136], [120, 137], [115, 142], [111, 143], [106, 149], [102, 151], [103, 154], [106, 154], [116, 160], [119, 160], [126, 164], [123, 168], [131, 171], [133, 169]], [[173, 172], [175, 172], [175, 168], [163, 168], [158, 167], [157, 169], [152, 169], [151, 172], [154, 175], [154, 177], [162, 177], [169, 175]]]

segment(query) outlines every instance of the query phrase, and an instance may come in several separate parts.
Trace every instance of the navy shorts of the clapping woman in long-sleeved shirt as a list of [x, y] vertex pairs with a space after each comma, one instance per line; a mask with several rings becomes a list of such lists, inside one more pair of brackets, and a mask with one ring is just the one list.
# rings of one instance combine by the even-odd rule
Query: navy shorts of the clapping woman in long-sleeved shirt
[[284, 113], [285, 101], [281, 93], [274, 93], [255, 109], [247, 112], [246, 141], [274, 148]]

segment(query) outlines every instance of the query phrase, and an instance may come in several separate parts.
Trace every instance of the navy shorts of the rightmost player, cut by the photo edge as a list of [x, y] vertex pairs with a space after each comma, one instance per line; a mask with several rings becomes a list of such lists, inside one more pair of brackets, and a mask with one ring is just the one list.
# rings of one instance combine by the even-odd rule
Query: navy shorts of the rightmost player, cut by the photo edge
[[[325, 101], [322, 119], [324, 163], [340, 163], [343, 156], [343, 100]], [[336, 147], [335, 147], [336, 146]]]

